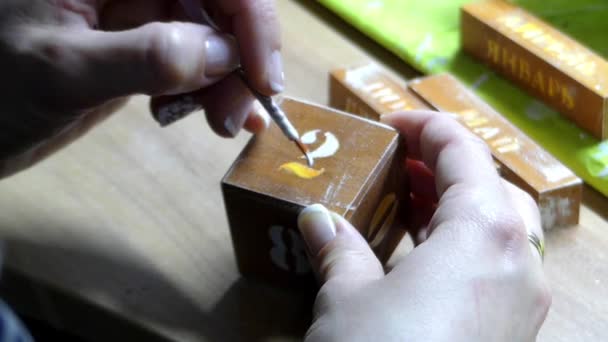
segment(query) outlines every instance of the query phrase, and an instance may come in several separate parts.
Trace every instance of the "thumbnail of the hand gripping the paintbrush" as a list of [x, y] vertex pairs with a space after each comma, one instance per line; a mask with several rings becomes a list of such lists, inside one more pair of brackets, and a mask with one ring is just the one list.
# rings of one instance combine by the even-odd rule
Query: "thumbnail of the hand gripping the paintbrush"
[[205, 75], [217, 77], [236, 69], [239, 64], [236, 40], [229, 35], [212, 34], [205, 42]]

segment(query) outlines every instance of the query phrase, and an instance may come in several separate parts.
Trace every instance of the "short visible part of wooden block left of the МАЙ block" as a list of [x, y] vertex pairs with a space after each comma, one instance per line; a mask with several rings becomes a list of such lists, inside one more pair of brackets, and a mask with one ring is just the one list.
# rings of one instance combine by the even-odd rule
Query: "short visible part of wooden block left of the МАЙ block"
[[376, 120], [380, 115], [401, 110], [429, 109], [376, 64], [336, 69], [330, 73], [331, 107]]

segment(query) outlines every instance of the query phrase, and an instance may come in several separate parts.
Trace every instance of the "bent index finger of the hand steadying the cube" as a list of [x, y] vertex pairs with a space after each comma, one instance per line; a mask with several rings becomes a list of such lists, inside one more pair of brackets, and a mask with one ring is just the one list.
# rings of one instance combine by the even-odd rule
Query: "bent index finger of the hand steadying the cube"
[[485, 142], [446, 113], [402, 112], [382, 121], [404, 134], [408, 150], [435, 174], [439, 203], [428, 224], [427, 242], [434, 236], [442, 248], [450, 246], [446, 241], [460, 247], [465, 243], [469, 251], [483, 255], [489, 255], [488, 248], [493, 255], [524, 250], [525, 222], [514, 209]]

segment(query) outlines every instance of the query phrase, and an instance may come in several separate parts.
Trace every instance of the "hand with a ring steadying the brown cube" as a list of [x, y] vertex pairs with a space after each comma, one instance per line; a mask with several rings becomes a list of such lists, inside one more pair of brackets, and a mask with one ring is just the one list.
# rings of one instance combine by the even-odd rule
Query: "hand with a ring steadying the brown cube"
[[385, 274], [348, 222], [320, 205], [305, 209], [299, 227], [322, 283], [307, 340], [534, 341], [551, 303], [528, 242], [531, 233], [542, 239], [536, 204], [449, 116], [383, 121], [419, 160], [410, 162], [418, 244]]

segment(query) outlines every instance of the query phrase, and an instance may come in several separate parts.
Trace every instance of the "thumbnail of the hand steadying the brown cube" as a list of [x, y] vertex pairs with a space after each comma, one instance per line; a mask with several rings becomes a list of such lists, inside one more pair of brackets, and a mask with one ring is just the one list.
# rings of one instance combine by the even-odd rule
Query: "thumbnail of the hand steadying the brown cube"
[[321, 204], [306, 207], [298, 216], [298, 227], [312, 256], [336, 237], [336, 225], [329, 211]]

